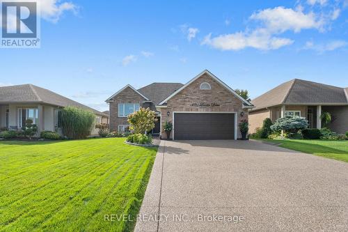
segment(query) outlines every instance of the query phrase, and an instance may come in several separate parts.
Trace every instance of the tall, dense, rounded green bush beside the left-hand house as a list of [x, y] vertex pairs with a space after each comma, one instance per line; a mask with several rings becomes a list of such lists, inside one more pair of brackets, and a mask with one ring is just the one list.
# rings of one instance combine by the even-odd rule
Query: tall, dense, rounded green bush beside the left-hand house
[[95, 123], [95, 114], [77, 107], [64, 107], [60, 111], [63, 134], [69, 139], [85, 139]]

